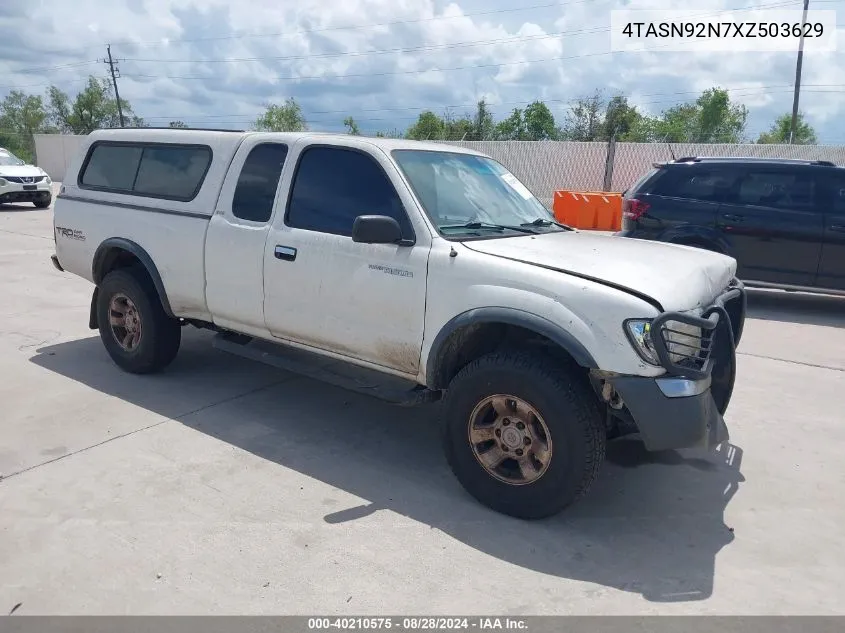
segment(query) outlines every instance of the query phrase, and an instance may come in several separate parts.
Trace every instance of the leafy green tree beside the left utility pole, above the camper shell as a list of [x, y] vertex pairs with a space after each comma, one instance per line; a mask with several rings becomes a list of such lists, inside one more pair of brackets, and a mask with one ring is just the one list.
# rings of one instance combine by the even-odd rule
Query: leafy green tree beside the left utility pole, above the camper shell
[[[71, 101], [56, 86], [47, 91], [48, 115], [52, 125], [68, 134], [89, 134], [100, 128], [120, 127], [120, 116], [114, 89], [108, 79], [88, 77], [85, 89]], [[125, 99], [120, 100], [123, 117], [129, 127], [143, 127], [144, 121], [132, 111]]]

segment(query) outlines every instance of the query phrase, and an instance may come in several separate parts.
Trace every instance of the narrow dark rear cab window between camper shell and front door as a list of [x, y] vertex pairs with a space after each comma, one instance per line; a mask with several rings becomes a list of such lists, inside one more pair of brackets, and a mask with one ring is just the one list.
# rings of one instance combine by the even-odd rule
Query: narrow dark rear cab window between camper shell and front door
[[262, 143], [252, 148], [235, 187], [232, 215], [250, 222], [270, 219], [287, 155], [287, 145], [280, 143]]

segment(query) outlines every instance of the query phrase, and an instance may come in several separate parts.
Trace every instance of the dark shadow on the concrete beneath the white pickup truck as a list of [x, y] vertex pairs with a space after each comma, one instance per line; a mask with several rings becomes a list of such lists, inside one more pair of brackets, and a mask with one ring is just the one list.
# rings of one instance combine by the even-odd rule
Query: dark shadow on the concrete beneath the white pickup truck
[[[31, 361], [366, 500], [320, 517], [329, 524], [391, 511], [512, 565], [655, 602], [707, 599], [716, 556], [734, 538], [724, 513], [744, 481], [736, 446], [650, 454], [634, 440], [611, 443], [586, 498], [525, 522], [479, 505], [453, 478], [437, 405], [404, 409], [270, 367], [256, 373], [193, 331], [157, 376], [119, 371], [99, 338], [43, 347]], [[270, 386], [215, 403], [215, 386], [238, 371]]]

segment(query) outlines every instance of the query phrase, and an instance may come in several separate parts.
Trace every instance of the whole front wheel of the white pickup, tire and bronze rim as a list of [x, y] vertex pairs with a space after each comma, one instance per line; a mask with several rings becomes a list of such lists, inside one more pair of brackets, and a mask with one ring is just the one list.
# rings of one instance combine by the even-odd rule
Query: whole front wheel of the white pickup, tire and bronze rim
[[447, 461], [464, 488], [497, 512], [557, 514], [586, 493], [604, 461], [595, 396], [545, 356], [483, 356], [455, 376], [443, 404]]

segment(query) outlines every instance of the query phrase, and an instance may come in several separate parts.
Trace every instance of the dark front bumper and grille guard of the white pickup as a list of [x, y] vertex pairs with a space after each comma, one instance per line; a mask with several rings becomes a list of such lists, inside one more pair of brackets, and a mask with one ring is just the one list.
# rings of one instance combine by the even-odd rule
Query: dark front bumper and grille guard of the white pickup
[[709, 328], [708, 354], [699, 365], [673, 362], [655, 336], [655, 347], [666, 374], [657, 378], [608, 378], [625, 405], [646, 448], [713, 448], [730, 438], [723, 415], [736, 379], [736, 346], [745, 323], [746, 296], [740, 281], [707, 307], [702, 317], [665, 313], [653, 321], [655, 330], [675, 321]]

